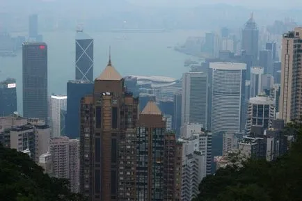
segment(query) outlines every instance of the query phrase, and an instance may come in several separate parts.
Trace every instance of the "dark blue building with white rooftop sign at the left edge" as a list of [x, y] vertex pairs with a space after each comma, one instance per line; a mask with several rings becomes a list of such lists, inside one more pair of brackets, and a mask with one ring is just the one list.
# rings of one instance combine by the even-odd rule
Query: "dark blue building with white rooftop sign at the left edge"
[[0, 82], [0, 116], [13, 115], [17, 111], [16, 80]]

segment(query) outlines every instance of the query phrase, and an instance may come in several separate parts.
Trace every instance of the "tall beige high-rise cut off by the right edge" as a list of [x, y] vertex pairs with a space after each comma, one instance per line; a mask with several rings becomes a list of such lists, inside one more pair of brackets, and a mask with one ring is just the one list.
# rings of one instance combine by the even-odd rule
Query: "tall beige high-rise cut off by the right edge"
[[283, 35], [281, 53], [281, 93], [279, 100], [279, 118], [290, 122], [299, 120], [301, 107], [301, 39], [302, 28], [295, 28]]

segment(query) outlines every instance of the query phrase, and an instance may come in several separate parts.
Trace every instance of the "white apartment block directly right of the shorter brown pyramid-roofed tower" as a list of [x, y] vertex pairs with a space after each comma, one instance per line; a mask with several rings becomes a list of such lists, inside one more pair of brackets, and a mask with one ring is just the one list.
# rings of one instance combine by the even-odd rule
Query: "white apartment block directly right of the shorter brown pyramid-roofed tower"
[[201, 180], [211, 174], [212, 134], [201, 124], [184, 124], [182, 137], [182, 200], [192, 200]]

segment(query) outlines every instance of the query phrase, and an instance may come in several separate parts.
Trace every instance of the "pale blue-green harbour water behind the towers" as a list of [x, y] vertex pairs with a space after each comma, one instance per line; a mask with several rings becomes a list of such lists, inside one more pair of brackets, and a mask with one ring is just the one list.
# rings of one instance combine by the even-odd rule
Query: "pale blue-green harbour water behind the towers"
[[[180, 78], [184, 61], [191, 56], [174, 51], [189, 36], [203, 35], [203, 31], [170, 31], [164, 33], [88, 33], [94, 38], [94, 76], [106, 66], [111, 46], [111, 58], [118, 72], [125, 75], [161, 75]], [[66, 83], [74, 79], [75, 32], [42, 33], [48, 45], [49, 94], [65, 94]], [[17, 79], [18, 111], [22, 113], [22, 52], [15, 57], [0, 57], [0, 80]]]

